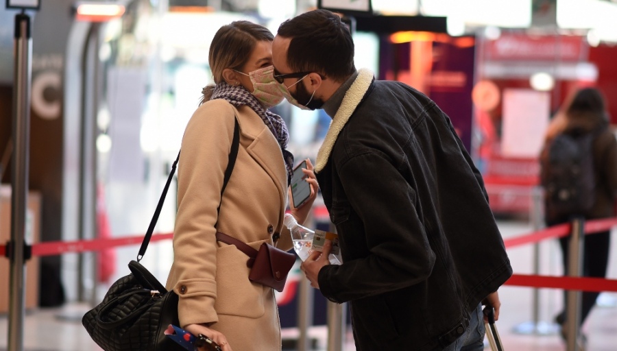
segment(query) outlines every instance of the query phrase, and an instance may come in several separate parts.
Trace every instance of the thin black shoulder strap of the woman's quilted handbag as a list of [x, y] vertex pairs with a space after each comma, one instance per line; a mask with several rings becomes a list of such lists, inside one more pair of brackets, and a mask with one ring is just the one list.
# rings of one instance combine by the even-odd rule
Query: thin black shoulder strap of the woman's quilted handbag
[[[238, 123], [238, 119], [234, 117], [234, 139], [232, 141], [231, 149], [229, 152], [229, 162], [227, 164], [227, 169], [225, 170], [225, 176], [223, 178], [223, 187], [221, 189], [221, 202], [223, 201], [223, 191], [225, 191], [227, 183], [229, 182], [229, 178], [231, 177], [231, 173], [234, 169], [239, 148], [240, 125]], [[182, 150], [180, 150], [180, 152], [182, 152]], [[152, 215], [152, 220], [150, 220], [148, 230], [145, 234], [145, 237], [143, 238], [143, 241], [141, 242], [141, 247], [139, 247], [139, 253], [137, 254], [137, 262], [141, 261], [141, 258], [143, 258], [145, 250], [148, 248], [148, 244], [150, 243], [150, 239], [152, 238], [152, 232], [154, 232], [154, 227], [156, 226], [156, 221], [158, 221], [160, 210], [162, 209], [162, 205], [165, 202], [165, 195], [167, 195], [167, 191], [169, 190], [169, 184], [171, 184], [173, 174], [176, 173], [176, 166], [178, 165], [178, 160], [180, 160], [180, 152], [178, 152], [178, 157], [176, 157], [176, 160], [173, 161], [173, 165], [171, 165], [171, 171], [169, 172], [169, 176], [167, 177], [167, 182], [165, 183], [165, 187], [163, 188], [162, 194], [160, 195], [160, 199], [158, 199], [156, 210], [154, 210], [154, 215]], [[220, 208], [221, 203], [219, 202], [217, 213], [219, 212]]]

